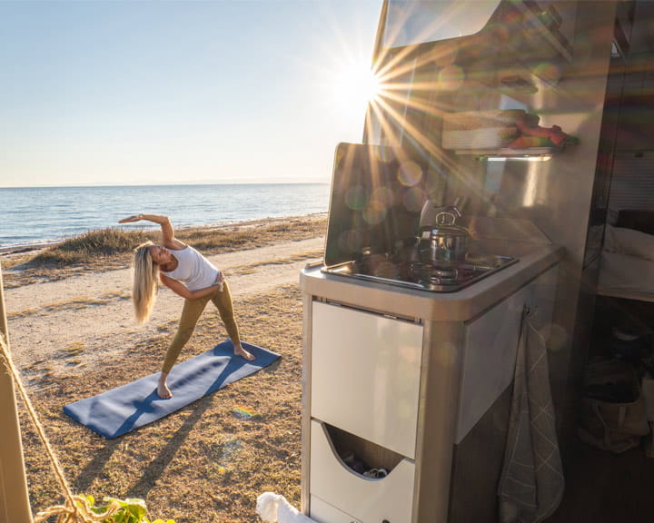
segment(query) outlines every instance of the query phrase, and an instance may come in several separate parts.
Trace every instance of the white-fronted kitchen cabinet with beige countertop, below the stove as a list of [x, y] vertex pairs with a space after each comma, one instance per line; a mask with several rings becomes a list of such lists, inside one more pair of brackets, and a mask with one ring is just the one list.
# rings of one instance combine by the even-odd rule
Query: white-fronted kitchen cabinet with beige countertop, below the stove
[[[441, 294], [302, 271], [302, 507], [321, 523], [491, 520], [525, 307], [550, 323], [562, 250]], [[516, 252], [517, 254], [518, 252]], [[384, 478], [347, 462], [355, 452]]]

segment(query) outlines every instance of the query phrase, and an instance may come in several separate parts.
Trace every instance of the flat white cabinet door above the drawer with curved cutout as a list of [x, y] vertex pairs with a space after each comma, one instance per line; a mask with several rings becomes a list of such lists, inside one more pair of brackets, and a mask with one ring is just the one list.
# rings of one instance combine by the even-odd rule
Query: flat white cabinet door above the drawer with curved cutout
[[313, 303], [311, 414], [415, 458], [422, 326]]

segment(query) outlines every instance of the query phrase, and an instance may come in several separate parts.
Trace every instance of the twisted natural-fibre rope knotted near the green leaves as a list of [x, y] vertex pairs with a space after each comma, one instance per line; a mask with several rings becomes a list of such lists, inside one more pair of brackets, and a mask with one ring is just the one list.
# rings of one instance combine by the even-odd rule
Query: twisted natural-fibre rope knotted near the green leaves
[[57, 505], [38, 512], [35, 516], [34, 523], [42, 523], [46, 519], [53, 516], [57, 516], [55, 523], [94, 523], [98, 521], [104, 521], [106, 518], [110, 518], [119, 508], [121, 508], [120, 504], [115, 499], [102, 514], [96, 514], [89, 506], [89, 503], [87, 499], [84, 498], [84, 496], [73, 495], [73, 492], [71, 491], [70, 487], [68, 486], [68, 482], [64, 477], [64, 470], [59, 464], [59, 460], [56, 459], [54, 450], [50, 445], [47, 437], [45, 436], [45, 430], [41, 424], [41, 421], [39, 421], [38, 416], [36, 415], [32, 401], [29, 399], [29, 396], [27, 396], [23, 382], [20, 379], [20, 374], [15, 368], [14, 362], [12, 361], [11, 355], [9, 354], [5, 336], [2, 333], [0, 333], [0, 356], [2, 357], [2, 361], [5, 364], [6, 370], [9, 371], [9, 374], [14, 379], [16, 388], [18, 389], [21, 398], [25, 402], [27, 413], [29, 414], [30, 419], [32, 419], [36, 433], [38, 434], [39, 439], [41, 439], [41, 442], [44, 444], [45, 451], [47, 452], [50, 463], [53, 466], [54, 475], [56, 476], [59, 485], [64, 491], [64, 505]]

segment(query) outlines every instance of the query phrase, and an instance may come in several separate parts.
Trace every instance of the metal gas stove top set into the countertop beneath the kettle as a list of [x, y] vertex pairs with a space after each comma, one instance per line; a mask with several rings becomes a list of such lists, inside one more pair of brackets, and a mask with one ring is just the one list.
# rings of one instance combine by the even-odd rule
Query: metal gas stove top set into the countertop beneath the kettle
[[356, 261], [322, 267], [322, 272], [407, 289], [456, 292], [518, 262], [494, 254], [468, 254], [462, 262], [423, 262], [420, 257], [397, 260], [388, 254], [371, 254]]

